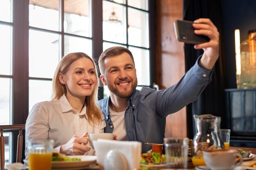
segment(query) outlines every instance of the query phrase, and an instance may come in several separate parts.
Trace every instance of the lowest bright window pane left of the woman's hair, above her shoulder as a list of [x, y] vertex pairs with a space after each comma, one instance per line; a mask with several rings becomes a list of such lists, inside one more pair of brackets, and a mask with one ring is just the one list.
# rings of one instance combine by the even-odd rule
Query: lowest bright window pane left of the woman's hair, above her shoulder
[[52, 81], [29, 80], [29, 111], [42, 101], [51, 100]]

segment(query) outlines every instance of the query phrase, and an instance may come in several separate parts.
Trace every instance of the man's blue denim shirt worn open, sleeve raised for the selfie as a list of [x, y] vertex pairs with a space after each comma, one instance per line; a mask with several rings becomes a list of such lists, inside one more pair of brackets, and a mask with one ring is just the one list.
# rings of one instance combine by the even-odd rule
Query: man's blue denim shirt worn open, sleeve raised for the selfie
[[[142, 142], [142, 153], [152, 148], [145, 145], [145, 142], [162, 144], [166, 116], [195, 101], [210, 83], [211, 74], [212, 70], [201, 68], [197, 61], [177, 84], [168, 89], [155, 90], [148, 87], [136, 89], [128, 100], [124, 115], [129, 141]], [[112, 133], [114, 129], [109, 111], [110, 100], [110, 97], [99, 100], [106, 121], [105, 133]]]

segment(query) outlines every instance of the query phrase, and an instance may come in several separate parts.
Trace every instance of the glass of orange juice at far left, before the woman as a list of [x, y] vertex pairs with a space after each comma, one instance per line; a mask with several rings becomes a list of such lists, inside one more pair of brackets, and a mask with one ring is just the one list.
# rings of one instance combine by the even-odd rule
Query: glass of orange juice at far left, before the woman
[[51, 170], [54, 140], [33, 140], [28, 142], [29, 170]]

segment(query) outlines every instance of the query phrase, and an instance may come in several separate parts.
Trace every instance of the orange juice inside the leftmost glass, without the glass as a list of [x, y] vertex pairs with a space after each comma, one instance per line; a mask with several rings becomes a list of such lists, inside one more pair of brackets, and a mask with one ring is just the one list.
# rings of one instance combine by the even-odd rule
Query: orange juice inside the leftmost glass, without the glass
[[29, 170], [51, 170], [52, 153], [29, 153]]

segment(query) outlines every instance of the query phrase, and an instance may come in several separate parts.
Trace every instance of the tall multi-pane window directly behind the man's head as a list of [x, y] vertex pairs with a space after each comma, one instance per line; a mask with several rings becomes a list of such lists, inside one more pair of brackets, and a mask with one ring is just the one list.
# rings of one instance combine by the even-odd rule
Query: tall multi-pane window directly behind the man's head
[[139, 87], [150, 87], [149, 12], [148, 0], [103, 0], [103, 50], [124, 46], [132, 52]]

